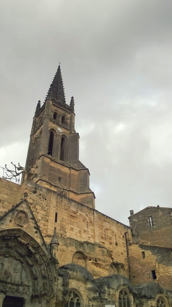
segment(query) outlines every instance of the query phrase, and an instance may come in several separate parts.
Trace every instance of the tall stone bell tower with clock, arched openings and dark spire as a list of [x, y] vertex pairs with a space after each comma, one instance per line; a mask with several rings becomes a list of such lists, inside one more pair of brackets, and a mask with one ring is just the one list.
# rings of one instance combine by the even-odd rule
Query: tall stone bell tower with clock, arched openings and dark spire
[[[95, 208], [89, 170], [79, 161], [74, 99], [66, 104], [60, 65], [43, 106], [33, 118], [26, 169], [38, 173], [33, 181], [70, 199]], [[24, 178], [23, 178], [24, 179]]]

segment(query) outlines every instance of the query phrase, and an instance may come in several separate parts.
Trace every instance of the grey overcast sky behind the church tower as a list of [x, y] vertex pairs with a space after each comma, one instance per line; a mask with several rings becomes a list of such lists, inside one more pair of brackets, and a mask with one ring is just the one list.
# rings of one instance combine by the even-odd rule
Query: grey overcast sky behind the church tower
[[60, 61], [96, 209], [129, 225], [172, 207], [171, 0], [1, 0], [0, 15], [0, 166], [25, 165]]

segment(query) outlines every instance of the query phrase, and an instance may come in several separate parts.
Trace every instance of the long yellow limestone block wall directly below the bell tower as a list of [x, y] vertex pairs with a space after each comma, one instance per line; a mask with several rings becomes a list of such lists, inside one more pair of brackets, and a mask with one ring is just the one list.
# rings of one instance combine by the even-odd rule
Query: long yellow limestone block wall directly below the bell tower
[[[107, 274], [128, 276], [125, 240], [125, 233], [130, 235], [128, 226], [30, 181], [20, 186], [0, 179], [0, 184], [1, 202], [6, 200], [1, 214], [25, 195], [46, 243], [50, 243], [54, 227], [57, 228], [60, 265], [76, 263], [77, 258], [84, 257], [83, 266], [95, 278]], [[11, 195], [10, 201], [8, 195]], [[83, 254], [75, 257], [76, 252]], [[80, 260], [82, 259], [78, 259]]]

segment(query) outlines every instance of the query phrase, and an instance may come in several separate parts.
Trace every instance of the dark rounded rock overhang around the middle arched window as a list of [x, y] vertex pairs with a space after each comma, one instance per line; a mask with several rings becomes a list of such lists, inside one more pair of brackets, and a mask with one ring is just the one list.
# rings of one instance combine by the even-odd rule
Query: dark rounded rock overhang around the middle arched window
[[119, 286], [125, 286], [130, 292], [134, 292], [132, 284], [125, 276], [113, 274], [106, 277], [95, 279], [95, 284], [99, 290], [99, 298], [114, 299], [114, 292]]

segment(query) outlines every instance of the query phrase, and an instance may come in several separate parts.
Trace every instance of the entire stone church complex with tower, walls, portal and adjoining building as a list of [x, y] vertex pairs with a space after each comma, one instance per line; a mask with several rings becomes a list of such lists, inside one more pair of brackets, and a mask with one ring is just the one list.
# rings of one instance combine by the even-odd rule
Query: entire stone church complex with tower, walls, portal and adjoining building
[[0, 307], [172, 306], [171, 209], [98, 212], [74, 119], [59, 66], [21, 185], [0, 178]]

